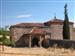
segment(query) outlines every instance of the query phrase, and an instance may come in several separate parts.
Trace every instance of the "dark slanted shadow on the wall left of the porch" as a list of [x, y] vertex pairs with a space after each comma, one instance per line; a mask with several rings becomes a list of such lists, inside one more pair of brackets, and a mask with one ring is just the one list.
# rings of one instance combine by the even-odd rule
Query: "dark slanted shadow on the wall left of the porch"
[[24, 34], [20, 37], [15, 43], [16, 47], [28, 47], [29, 46], [29, 37], [27, 34]]

